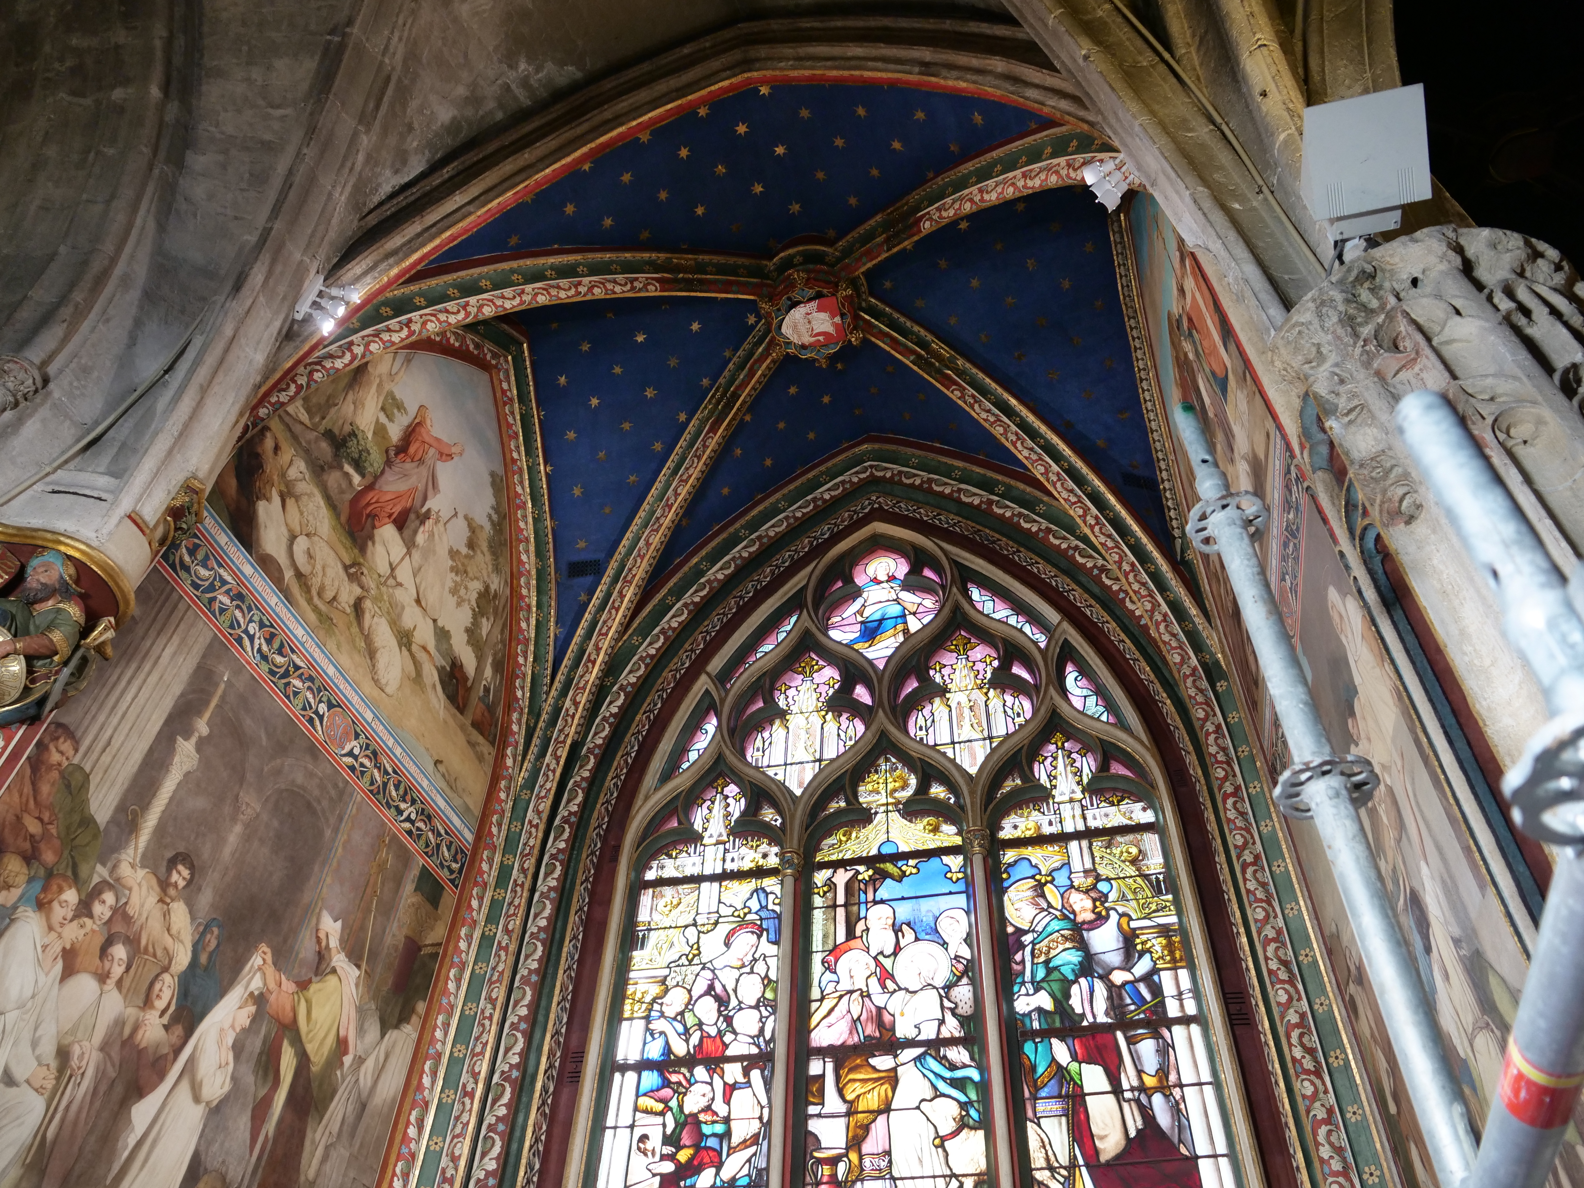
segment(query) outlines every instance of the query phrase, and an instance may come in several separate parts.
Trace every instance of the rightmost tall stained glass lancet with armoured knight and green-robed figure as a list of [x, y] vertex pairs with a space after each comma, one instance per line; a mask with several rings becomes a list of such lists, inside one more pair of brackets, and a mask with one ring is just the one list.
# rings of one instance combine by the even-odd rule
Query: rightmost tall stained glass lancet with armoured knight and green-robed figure
[[1231, 1188], [1155, 811], [1093, 771], [1058, 733], [998, 828], [1034, 1178]]

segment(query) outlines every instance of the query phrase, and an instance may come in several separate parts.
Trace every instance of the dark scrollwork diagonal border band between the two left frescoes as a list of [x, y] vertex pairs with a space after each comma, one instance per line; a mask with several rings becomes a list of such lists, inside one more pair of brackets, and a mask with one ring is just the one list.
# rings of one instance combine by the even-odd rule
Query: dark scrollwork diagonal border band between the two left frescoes
[[328, 654], [317, 649], [320, 654], [310, 657], [303, 648], [301, 623], [282, 624], [261, 604], [236, 572], [233, 553], [241, 546], [209, 516], [193, 535], [168, 548], [158, 565], [318, 749], [455, 892], [469, 840], [436, 811], [406, 767], [372, 735], [372, 724], [363, 718], [367, 703], [342, 695], [345, 676], [336, 670], [336, 680], [320, 668], [318, 661], [328, 662]]

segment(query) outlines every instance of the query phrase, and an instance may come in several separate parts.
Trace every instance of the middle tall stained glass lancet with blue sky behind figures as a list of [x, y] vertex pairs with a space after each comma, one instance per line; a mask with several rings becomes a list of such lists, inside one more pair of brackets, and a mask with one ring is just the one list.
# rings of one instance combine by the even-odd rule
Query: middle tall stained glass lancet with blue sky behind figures
[[813, 870], [805, 1123], [846, 1152], [847, 1183], [876, 1188], [954, 1188], [985, 1166], [961, 840], [927, 803], [903, 808], [916, 789], [881, 759], [859, 782], [868, 819], [832, 830]]

